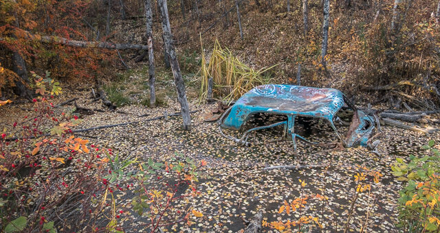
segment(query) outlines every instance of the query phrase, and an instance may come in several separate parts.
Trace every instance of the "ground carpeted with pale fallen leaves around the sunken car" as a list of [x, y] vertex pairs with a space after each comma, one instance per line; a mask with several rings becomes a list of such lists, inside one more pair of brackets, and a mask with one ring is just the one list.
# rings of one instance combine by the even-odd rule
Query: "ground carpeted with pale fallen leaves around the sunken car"
[[[203, 213], [203, 217], [192, 217], [194, 224], [176, 223], [164, 228], [164, 232], [239, 232], [245, 228], [244, 219], [251, 219], [256, 212], [263, 212], [263, 220], [294, 221], [301, 216], [318, 217], [325, 232], [340, 232], [346, 228], [346, 221], [351, 208], [355, 191], [354, 175], [360, 170], [356, 166], [380, 171], [383, 177], [380, 182], [371, 182], [371, 193], [375, 199], [364, 192], [360, 195], [353, 209], [353, 217], [349, 222], [350, 232], [359, 232], [366, 214], [369, 212], [366, 232], [398, 232], [397, 227], [397, 198], [402, 183], [395, 180], [391, 174], [391, 164], [397, 157], [407, 157], [410, 154], [421, 155], [422, 145], [430, 139], [440, 138], [440, 133], [424, 135], [419, 132], [401, 130], [396, 127], [383, 127], [383, 136], [378, 147], [380, 154], [373, 154], [364, 148], [322, 149], [299, 143], [298, 154], [295, 154], [292, 143], [260, 143], [251, 147], [239, 147], [236, 143], [223, 138], [217, 130], [217, 123], [205, 122], [206, 113], [217, 107], [217, 104], [199, 104], [197, 86], [188, 85], [190, 110], [198, 110], [191, 114], [192, 130], [181, 130], [181, 117], [172, 116], [157, 121], [143, 121], [155, 116], [179, 112], [179, 103], [175, 98], [173, 79], [169, 73], [159, 71], [157, 93], [160, 97], [158, 108], [142, 106], [144, 93], [142, 89], [146, 82], [142, 76], [130, 73], [114, 83], [120, 88], [126, 84], [123, 92], [131, 105], [118, 108], [120, 112], [95, 112], [80, 115], [83, 123], [75, 129], [83, 129], [100, 125], [111, 125], [129, 121], [140, 123], [110, 127], [102, 130], [83, 132], [77, 136], [91, 140], [91, 143], [106, 145], [117, 151], [122, 158], [137, 158], [146, 161], [153, 158], [157, 161], [167, 161], [175, 153], [184, 154], [196, 161], [206, 160], [207, 166], [201, 169], [197, 190], [201, 195], [191, 197], [195, 210]], [[113, 84], [111, 84], [113, 85]], [[65, 89], [66, 90], [66, 89]], [[129, 94], [130, 93], [130, 94]], [[78, 106], [86, 108], [102, 108], [100, 103], [91, 102], [91, 92], [88, 88], [77, 91], [67, 91], [59, 102], [78, 97]], [[137, 99], [137, 103], [135, 103]], [[30, 114], [26, 109], [32, 108], [32, 103], [12, 104], [0, 112], [0, 125], [12, 125], [18, 117]], [[74, 106], [65, 106], [64, 111], [73, 111]], [[121, 113], [124, 112], [124, 113]], [[148, 116], [142, 116], [148, 114]], [[440, 116], [434, 115], [439, 119]], [[440, 125], [433, 125], [440, 127]], [[316, 135], [322, 134], [318, 128]], [[330, 131], [328, 131], [331, 133]], [[329, 138], [329, 135], [324, 136]], [[438, 145], [437, 145], [438, 147]], [[330, 164], [327, 169], [303, 170], [263, 170], [265, 167], [289, 164]], [[307, 183], [301, 187], [299, 180]], [[290, 214], [278, 213], [283, 201], [291, 202], [305, 195], [320, 194], [328, 197], [327, 202], [318, 199], [308, 199], [305, 208]], [[144, 232], [143, 221], [131, 210], [133, 193], [116, 193], [122, 197], [118, 208], [127, 210], [123, 228], [127, 232]], [[374, 204], [373, 204], [374, 202]], [[186, 205], [181, 203], [181, 205]], [[297, 228], [297, 227], [296, 227]], [[305, 230], [320, 232], [318, 224], [311, 222], [305, 225]], [[277, 232], [265, 227], [263, 232]]]

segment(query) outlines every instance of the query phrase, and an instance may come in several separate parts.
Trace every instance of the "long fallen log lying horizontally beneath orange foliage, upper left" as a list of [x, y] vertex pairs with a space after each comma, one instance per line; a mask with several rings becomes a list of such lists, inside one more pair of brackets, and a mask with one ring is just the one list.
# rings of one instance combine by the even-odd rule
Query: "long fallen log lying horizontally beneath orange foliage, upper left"
[[[100, 41], [84, 41], [84, 40], [69, 40], [67, 38], [61, 38], [58, 36], [40, 36], [30, 34], [26, 32], [23, 38], [28, 40], [36, 40], [43, 43], [56, 43], [61, 45], [67, 45], [71, 47], [80, 47], [80, 48], [101, 48], [101, 49], [135, 49], [135, 50], [148, 50], [148, 46], [146, 45], [135, 45], [135, 44], [115, 44], [112, 42], [100, 42]], [[0, 41], [10, 40], [10, 38], [0, 38]]]

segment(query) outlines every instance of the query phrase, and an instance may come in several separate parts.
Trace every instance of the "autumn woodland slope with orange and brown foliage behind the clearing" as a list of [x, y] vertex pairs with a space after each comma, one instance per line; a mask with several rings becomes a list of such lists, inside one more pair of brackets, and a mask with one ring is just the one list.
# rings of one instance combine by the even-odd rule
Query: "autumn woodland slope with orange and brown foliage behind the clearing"
[[[218, 39], [255, 69], [278, 64], [264, 74], [275, 83], [296, 83], [301, 64], [303, 85], [331, 86], [351, 94], [377, 87], [390, 90], [384, 86], [408, 81], [402, 84], [405, 93], [439, 100], [440, 3], [329, 1], [323, 66], [326, 2], [168, 1], [177, 58], [184, 72], [195, 74], [200, 42], [210, 51]], [[142, 66], [139, 62], [148, 60], [142, 49], [105, 49], [89, 42], [146, 45], [144, 5], [133, 0], [1, 1], [1, 95], [5, 98], [14, 90], [30, 98], [21, 86], [29, 84], [29, 71], [50, 71], [61, 83], [78, 86], [113, 79], [115, 70], [129, 67], [124, 61]], [[152, 14], [156, 63], [162, 66], [162, 29], [155, 1]], [[61, 38], [83, 44], [63, 45]], [[390, 99], [394, 103], [392, 93], [380, 96], [381, 101]]]

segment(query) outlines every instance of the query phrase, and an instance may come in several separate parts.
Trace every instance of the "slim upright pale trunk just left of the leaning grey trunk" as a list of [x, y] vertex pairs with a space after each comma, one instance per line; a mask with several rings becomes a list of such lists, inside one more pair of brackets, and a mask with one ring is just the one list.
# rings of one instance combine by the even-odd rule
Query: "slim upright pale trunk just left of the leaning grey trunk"
[[153, 53], [153, 12], [151, 12], [151, 0], [144, 0], [146, 18], [146, 37], [148, 39], [148, 75], [150, 76], [150, 107], [156, 106], [154, 53]]

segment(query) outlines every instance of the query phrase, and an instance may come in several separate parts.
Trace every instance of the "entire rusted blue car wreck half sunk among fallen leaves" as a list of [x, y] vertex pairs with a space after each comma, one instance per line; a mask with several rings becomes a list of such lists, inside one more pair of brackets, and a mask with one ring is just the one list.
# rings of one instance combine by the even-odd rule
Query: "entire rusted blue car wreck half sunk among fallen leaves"
[[[353, 117], [346, 138], [340, 135], [333, 122], [338, 118], [336, 114], [342, 107], [351, 108], [353, 110]], [[245, 122], [259, 112], [285, 115], [287, 116], [287, 121], [253, 127], [250, 130], [246, 130], [241, 138], [227, 136], [221, 131], [222, 128], [243, 130]], [[347, 98], [344, 97], [344, 94], [340, 92], [340, 90], [333, 88], [267, 84], [257, 86], [248, 93], [245, 93], [233, 106], [226, 110], [219, 119], [219, 130], [223, 136], [235, 140], [236, 143], [249, 145], [248, 137], [251, 132], [283, 125], [283, 136], [292, 136], [295, 149], [297, 139], [311, 144], [320, 144], [312, 143], [305, 137], [295, 133], [295, 119], [298, 116], [328, 121], [336, 137], [339, 138], [345, 147], [355, 147], [358, 145], [366, 147], [369, 144], [369, 138], [376, 125], [373, 116], [365, 114], [362, 110], [357, 110], [347, 101]]]

